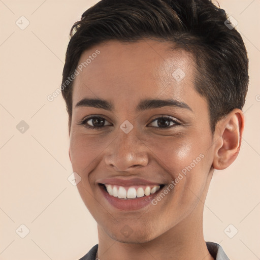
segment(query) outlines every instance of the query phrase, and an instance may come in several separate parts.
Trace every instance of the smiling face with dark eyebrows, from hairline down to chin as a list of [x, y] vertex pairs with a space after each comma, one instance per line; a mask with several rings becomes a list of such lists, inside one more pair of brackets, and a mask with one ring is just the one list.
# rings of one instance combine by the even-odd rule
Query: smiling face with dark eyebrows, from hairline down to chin
[[70, 159], [86, 207], [121, 242], [202, 217], [214, 154], [209, 112], [191, 54], [170, 47], [109, 41], [79, 61], [91, 57], [74, 81]]

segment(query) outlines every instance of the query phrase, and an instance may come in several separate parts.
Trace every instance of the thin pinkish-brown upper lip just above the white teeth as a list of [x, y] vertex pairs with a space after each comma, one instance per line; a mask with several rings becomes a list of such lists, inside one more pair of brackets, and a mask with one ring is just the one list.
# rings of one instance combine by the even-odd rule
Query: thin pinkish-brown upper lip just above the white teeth
[[106, 179], [99, 179], [96, 181], [97, 183], [101, 184], [114, 184], [118, 186], [135, 186], [135, 185], [163, 185], [160, 182], [152, 182], [145, 179], [140, 178], [132, 178], [132, 179], [123, 179], [123, 178], [106, 178]]

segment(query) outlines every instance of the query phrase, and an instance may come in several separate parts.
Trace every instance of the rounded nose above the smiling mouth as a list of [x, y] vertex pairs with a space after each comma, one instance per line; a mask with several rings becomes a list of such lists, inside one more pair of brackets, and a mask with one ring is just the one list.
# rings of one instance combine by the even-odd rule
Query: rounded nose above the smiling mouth
[[148, 164], [148, 148], [132, 131], [121, 131], [107, 148], [105, 163], [114, 171], [131, 172]]

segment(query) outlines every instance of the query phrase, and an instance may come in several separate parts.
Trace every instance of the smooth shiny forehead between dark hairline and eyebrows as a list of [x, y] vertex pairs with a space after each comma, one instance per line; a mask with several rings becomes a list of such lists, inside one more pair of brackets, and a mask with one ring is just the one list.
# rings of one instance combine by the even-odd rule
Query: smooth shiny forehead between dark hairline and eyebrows
[[193, 57], [169, 42], [109, 41], [84, 51], [78, 68], [80, 64], [83, 67], [74, 80], [73, 106], [84, 96], [122, 102], [171, 96], [183, 101], [194, 92]]

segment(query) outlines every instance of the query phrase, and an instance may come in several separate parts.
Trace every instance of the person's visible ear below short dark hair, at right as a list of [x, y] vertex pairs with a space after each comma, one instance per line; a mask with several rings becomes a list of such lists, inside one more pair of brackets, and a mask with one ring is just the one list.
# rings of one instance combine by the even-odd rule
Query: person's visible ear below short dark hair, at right
[[218, 121], [214, 133], [215, 150], [213, 168], [223, 170], [237, 158], [244, 130], [244, 115], [240, 109], [234, 109]]

